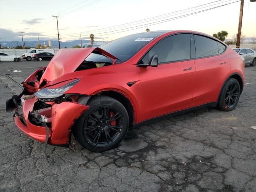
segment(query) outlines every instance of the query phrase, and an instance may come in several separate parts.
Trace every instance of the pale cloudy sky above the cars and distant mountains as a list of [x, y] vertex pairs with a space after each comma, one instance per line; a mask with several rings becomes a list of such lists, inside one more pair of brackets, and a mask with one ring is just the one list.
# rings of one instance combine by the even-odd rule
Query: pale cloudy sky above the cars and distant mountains
[[[226, 30], [227, 38], [232, 38], [238, 30], [240, 10], [240, 2], [235, 1], [237, 0], [0, 0], [0, 42], [21, 41], [18, 32], [25, 32], [25, 41], [38, 40], [37, 34], [40, 40], [57, 40], [56, 18], [52, 16], [61, 16], [58, 18], [58, 25], [62, 41], [80, 39], [80, 34], [82, 39], [88, 39], [90, 33], [94, 34], [94, 40], [110, 41], [144, 32], [146, 28], [150, 31], [195, 30], [210, 35]], [[214, 3], [207, 4], [210, 2]], [[171, 20], [231, 2], [235, 3]], [[184, 10], [202, 4], [207, 5]], [[177, 12], [179, 10], [184, 11]], [[242, 33], [246, 37], [256, 36], [255, 10], [256, 2], [244, 0]], [[152, 18], [160, 15], [164, 16]], [[147, 18], [152, 21], [145, 20]], [[167, 19], [170, 21], [156, 24]], [[138, 20], [142, 21], [132, 23], [133, 25], [126, 24]], [[152, 22], [156, 23], [149, 24]], [[117, 26], [121, 24], [125, 25]], [[108, 28], [111, 26], [116, 27]]]

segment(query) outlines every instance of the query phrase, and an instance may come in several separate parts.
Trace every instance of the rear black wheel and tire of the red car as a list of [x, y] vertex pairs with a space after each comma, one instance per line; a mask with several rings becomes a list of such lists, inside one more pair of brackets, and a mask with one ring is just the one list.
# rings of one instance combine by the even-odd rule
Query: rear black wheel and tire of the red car
[[238, 80], [230, 78], [222, 88], [218, 107], [224, 111], [231, 111], [236, 107], [239, 97], [240, 84]]

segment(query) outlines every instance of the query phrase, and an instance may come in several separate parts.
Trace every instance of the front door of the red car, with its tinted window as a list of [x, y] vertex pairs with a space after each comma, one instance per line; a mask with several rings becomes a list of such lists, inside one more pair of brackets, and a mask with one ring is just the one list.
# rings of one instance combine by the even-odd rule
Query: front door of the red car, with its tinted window
[[195, 76], [190, 34], [176, 34], [155, 44], [139, 63], [158, 55], [158, 67], [138, 67], [138, 100], [141, 120], [150, 119], [192, 105]]

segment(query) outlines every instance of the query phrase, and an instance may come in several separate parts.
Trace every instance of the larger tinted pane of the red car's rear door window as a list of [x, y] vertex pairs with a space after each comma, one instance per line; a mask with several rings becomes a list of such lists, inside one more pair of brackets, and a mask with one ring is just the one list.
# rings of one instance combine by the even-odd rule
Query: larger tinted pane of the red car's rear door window
[[218, 45], [215, 40], [208, 37], [194, 35], [196, 46], [196, 58], [219, 54]]

